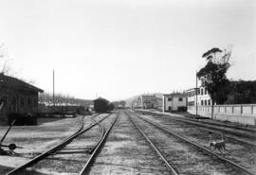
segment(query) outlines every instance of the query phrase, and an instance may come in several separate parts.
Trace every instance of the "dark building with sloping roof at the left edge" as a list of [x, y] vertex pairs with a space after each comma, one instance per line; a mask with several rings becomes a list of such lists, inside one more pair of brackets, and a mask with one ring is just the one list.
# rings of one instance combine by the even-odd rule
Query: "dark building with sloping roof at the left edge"
[[0, 74], [0, 121], [9, 114], [37, 114], [39, 89], [21, 79]]

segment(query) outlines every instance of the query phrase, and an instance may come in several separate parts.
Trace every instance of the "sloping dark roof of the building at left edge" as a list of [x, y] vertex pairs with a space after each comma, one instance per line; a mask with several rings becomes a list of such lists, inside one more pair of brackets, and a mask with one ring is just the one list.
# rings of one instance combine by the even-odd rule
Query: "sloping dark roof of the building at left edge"
[[33, 91], [43, 93], [44, 91], [38, 87], [35, 87], [21, 79], [16, 79], [13, 77], [0, 74], [0, 86], [5, 86], [12, 89], [21, 89], [26, 91]]

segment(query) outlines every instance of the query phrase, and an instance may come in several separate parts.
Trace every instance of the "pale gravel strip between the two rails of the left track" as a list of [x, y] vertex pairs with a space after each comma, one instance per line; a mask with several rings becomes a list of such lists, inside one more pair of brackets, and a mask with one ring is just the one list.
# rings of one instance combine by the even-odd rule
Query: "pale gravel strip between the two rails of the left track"
[[[115, 114], [110, 115], [101, 122], [101, 125], [108, 128], [108, 125], [110, 125], [114, 116]], [[97, 117], [96, 120], [99, 120], [99, 118], [101, 117]], [[21, 173], [20, 175], [27, 175], [27, 172], [33, 175], [40, 175], [42, 173], [50, 175], [78, 174], [90, 157], [88, 150], [97, 144], [100, 137], [101, 128], [96, 125], [92, 129], [85, 131], [82, 135], [75, 138], [64, 149], [57, 152], [56, 155], [47, 157], [46, 160], [30, 167], [29, 171]]]

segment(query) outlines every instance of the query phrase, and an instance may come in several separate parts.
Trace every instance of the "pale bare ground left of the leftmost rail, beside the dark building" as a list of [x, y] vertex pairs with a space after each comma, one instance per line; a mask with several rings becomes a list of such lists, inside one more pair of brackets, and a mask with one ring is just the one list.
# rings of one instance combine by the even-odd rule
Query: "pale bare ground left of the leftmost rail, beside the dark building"
[[[23, 149], [15, 149], [17, 154], [13, 156], [0, 155], [0, 174], [24, 164], [77, 131], [80, 127], [81, 117], [39, 118], [38, 126], [13, 126], [4, 143], [15, 143]], [[87, 117], [90, 116], [85, 116], [85, 118]], [[8, 127], [0, 127], [0, 135], [3, 135], [7, 129]]]

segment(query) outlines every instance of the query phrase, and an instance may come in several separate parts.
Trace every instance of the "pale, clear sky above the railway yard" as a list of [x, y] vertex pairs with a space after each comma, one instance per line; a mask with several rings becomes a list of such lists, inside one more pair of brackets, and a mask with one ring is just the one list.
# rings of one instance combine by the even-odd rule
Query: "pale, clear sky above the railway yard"
[[84, 99], [195, 86], [212, 47], [232, 46], [229, 79], [256, 79], [255, 0], [0, 0], [13, 76]]

